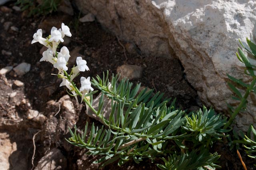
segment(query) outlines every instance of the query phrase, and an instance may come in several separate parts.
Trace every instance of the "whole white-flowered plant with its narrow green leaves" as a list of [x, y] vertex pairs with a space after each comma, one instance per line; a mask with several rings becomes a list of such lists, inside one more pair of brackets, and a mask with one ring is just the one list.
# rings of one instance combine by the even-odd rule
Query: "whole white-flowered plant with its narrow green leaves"
[[[38, 29], [33, 36], [32, 44], [39, 42], [48, 49], [43, 52], [41, 61], [50, 62], [58, 69], [62, 78], [60, 86], [66, 86], [68, 94], [74, 96], [78, 102], [85, 102], [87, 110], [90, 109], [98, 116], [103, 125], [91, 126], [88, 122], [81, 133], [70, 130], [71, 137], [67, 139], [71, 144], [86, 148], [87, 154], [102, 155], [94, 163], [106, 166], [118, 161], [118, 165], [134, 160], [140, 163], [142, 159], [155, 160], [162, 158], [164, 165], [158, 164], [161, 169], [215, 169], [214, 164], [220, 157], [217, 153], [211, 154], [210, 148], [214, 141], [224, 136], [226, 118], [216, 115], [214, 110], [203, 107], [202, 110], [187, 114], [175, 107], [175, 100], [163, 99], [164, 94], [147, 88], [140, 90], [140, 84], [135, 86], [129, 80], [120, 80], [112, 75], [110, 80], [108, 72], [103, 78], [96, 76], [81, 77], [81, 87], [74, 83], [74, 78], [80, 72], [88, 71], [87, 62], [82, 57], [76, 58], [76, 65], [68, 73], [67, 62], [70, 58], [69, 50], [63, 46], [57, 51], [64, 36], [72, 36], [68, 26], [62, 23], [62, 28], [52, 27], [47, 38], [42, 37], [42, 30]], [[92, 105], [93, 94], [99, 89], [102, 93], [98, 108]], [[111, 100], [111, 113], [109, 118], [103, 115], [104, 96]], [[166, 155], [170, 155], [166, 160]]]

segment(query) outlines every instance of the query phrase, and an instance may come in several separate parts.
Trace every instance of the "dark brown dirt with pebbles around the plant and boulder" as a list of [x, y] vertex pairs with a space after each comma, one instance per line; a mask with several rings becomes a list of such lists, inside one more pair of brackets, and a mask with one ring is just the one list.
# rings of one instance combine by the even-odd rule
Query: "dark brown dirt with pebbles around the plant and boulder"
[[[7, 4], [11, 9], [14, 4]], [[34, 32], [38, 28], [46, 30], [49, 34], [52, 26], [60, 27], [61, 22], [68, 24], [71, 28], [72, 38], [65, 44], [71, 56], [83, 56], [87, 61], [90, 72], [85, 72], [82, 76], [95, 77], [102, 75], [103, 71], [109, 70], [116, 73], [118, 66], [123, 64], [135, 64], [142, 66], [143, 76], [140, 79], [132, 80], [134, 83], [142, 83], [142, 86], [152, 88], [165, 93], [166, 97], [177, 98], [176, 105], [182, 109], [194, 110], [199, 108], [196, 91], [186, 81], [186, 76], [178, 60], [168, 58], [156, 58], [155, 56], [145, 56], [136, 46], [130, 53], [126, 50], [124, 55], [123, 47], [119, 44], [118, 38], [104, 30], [97, 22], [78, 23], [78, 12], [75, 16], [57, 13], [44, 17], [26, 17], [26, 12], [15, 10], [0, 10], [0, 50], [5, 52], [0, 54], [0, 69], [5, 66], [16, 66], [21, 62], [31, 64], [30, 71], [24, 76], [17, 76], [12, 70], [6, 76], [0, 77], [0, 150], [6, 150], [5, 156], [8, 159], [10, 170], [31, 169], [33, 155], [32, 138], [36, 132], [41, 130], [35, 137], [36, 153], [34, 165], [36, 166], [40, 158], [50, 148], [59, 148], [67, 158], [67, 169], [77, 170], [78, 164], [81, 169], [94, 170], [97, 165], [92, 162], [96, 157], [84, 154], [84, 150], [70, 146], [64, 138], [68, 138], [68, 126], [73, 126], [77, 122], [78, 127], [83, 127], [86, 121], [96, 122], [88, 118], [85, 106], [77, 104], [74, 98], [65, 98], [66, 89], [59, 87], [61, 82], [56, 76], [56, 70], [51, 64], [39, 62], [41, 58], [40, 44], [30, 44]], [[15, 26], [18, 31], [8, 28], [4, 29], [6, 22], [11, 22], [10, 26]], [[66, 40], [68, 41], [68, 40]], [[131, 46], [129, 42], [121, 40], [122, 45]], [[72, 63], [72, 58], [70, 59]], [[14, 80], [20, 80], [24, 86], [17, 87]], [[14, 95], [16, 93], [16, 95]], [[63, 98], [64, 96], [64, 98]], [[71, 107], [71, 109], [69, 108]], [[46, 122], [29, 120], [28, 110], [38, 110], [46, 117]], [[58, 114], [55, 116], [55, 114]], [[97, 123], [100, 124], [100, 123]], [[224, 144], [216, 144], [214, 151], [222, 154], [220, 165], [223, 169], [242, 169], [240, 161], [235, 151], [229, 151]], [[242, 151], [241, 151], [242, 152]], [[8, 157], [9, 156], [9, 157]], [[244, 156], [244, 160], [248, 160]], [[249, 160], [248, 160], [249, 161]], [[251, 162], [248, 162], [251, 164]], [[141, 164], [132, 161], [124, 164], [121, 168], [112, 164], [105, 169], [157, 169], [154, 163], [144, 160]]]

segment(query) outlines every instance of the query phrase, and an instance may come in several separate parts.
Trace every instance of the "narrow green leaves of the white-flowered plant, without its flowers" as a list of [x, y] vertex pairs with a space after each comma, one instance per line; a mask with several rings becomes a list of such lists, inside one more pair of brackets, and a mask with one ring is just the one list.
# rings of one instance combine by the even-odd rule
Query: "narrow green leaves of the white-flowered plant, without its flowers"
[[[176, 155], [179, 152], [185, 153], [182, 158], [190, 160], [189, 156], [198, 152], [206, 158], [202, 161], [207, 162], [209, 158], [209, 164], [205, 166], [217, 167], [212, 164], [219, 157], [217, 153], [210, 154], [205, 149], [189, 152], [200, 146], [209, 148], [215, 140], [224, 136], [222, 132], [226, 130], [222, 128], [226, 119], [215, 115], [212, 108], [207, 110], [204, 107], [203, 111], [186, 114], [176, 109], [175, 100], [167, 106], [170, 98], [163, 100], [164, 94], [154, 94], [153, 90], [146, 88], [140, 90], [140, 84], [133, 86], [129, 80], [118, 83], [118, 76], [114, 75], [110, 81], [108, 72], [103, 74], [102, 79], [99, 76], [92, 78], [92, 84], [102, 92], [95, 114], [107, 128], [95, 127], [94, 124], [90, 127], [87, 123], [82, 134], [77, 134], [75, 127], [74, 132], [70, 129], [68, 142], [88, 149], [88, 154], [104, 155], [94, 163], [105, 166], [118, 161], [121, 166], [129, 160], [139, 163], [143, 158], [149, 158], [153, 161], [156, 156], [165, 154], [172, 154], [168, 160], [175, 160], [179, 158]], [[108, 119], [104, 118], [102, 111], [104, 95], [112, 101]]]

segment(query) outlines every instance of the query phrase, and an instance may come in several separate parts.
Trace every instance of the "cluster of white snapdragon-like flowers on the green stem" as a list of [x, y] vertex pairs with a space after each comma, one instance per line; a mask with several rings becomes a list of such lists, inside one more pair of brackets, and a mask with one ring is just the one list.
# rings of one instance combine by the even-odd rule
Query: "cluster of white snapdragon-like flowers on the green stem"
[[46, 46], [48, 49], [43, 52], [43, 57], [40, 59], [41, 61], [50, 62], [54, 68], [59, 70], [58, 77], [62, 78], [62, 83], [60, 86], [66, 86], [70, 92], [75, 96], [76, 101], [78, 101], [77, 96], [80, 95], [82, 97], [81, 102], [84, 100], [84, 96], [91, 90], [94, 89], [91, 87], [90, 77], [85, 78], [81, 77], [81, 87], [80, 90], [76, 88], [73, 80], [79, 74], [79, 72], [89, 71], [88, 66], [86, 65], [86, 60], [83, 60], [82, 57], [76, 58], [76, 65], [72, 68], [70, 74], [66, 71], [68, 70], [67, 64], [70, 58], [69, 50], [66, 46], [63, 46], [60, 49], [60, 52], [57, 52], [57, 48], [60, 42], [64, 42], [64, 37], [71, 37], [70, 29], [64, 23], [61, 24], [61, 28], [57, 29], [56, 27], [52, 27], [51, 34], [43, 38], [42, 37], [42, 29], [38, 29], [37, 32], [33, 35], [33, 40], [31, 44], [35, 42], [39, 42], [40, 44]]

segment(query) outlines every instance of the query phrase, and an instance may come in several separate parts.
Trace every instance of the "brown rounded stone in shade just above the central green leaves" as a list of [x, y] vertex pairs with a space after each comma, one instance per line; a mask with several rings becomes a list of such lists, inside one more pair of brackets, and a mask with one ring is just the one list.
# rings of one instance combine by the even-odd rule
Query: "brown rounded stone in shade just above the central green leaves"
[[132, 80], [134, 78], [141, 78], [142, 77], [143, 68], [137, 65], [128, 65], [124, 64], [119, 66], [116, 70], [118, 74], [120, 74], [120, 78], [128, 78]]

